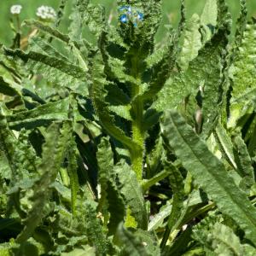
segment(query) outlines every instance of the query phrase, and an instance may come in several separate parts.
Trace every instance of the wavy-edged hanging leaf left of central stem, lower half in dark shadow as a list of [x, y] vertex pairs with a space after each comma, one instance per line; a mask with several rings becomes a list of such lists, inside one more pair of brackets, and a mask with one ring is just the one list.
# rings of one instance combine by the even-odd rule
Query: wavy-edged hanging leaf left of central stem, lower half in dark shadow
[[98, 179], [101, 184], [100, 204], [104, 204], [110, 213], [108, 230], [114, 234], [119, 223], [125, 218], [125, 203], [120, 195], [115, 181], [115, 172], [113, 170], [113, 152], [108, 139], [102, 137], [97, 151], [97, 161], [99, 166]]

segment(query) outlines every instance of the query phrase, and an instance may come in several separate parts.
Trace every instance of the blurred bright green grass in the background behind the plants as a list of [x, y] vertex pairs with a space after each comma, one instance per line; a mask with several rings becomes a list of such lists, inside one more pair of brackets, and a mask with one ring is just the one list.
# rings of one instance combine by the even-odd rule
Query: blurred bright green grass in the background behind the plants
[[[21, 4], [23, 6], [22, 12], [20, 14], [20, 20], [36, 18], [36, 10], [41, 5], [50, 5], [55, 9], [58, 7], [59, 0], [9, 0], [9, 1], [1, 1], [0, 4], [1, 8], [1, 16], [0, 16], [0, 42], [4, 44], [10, 44], [12, 34], [10, 31], [9, 26], [9, 8], [13, 4]], [[68, 1], [69, 3], [71, 0]], [[107, 8], [107, 14], [110, 13], [111, 10], [115, 11], [115, 3], [114, 0], [92, 0], [92, 3], [103, 3]], [[187, 15], [188, 17], [193, 15], [194, 13], [201, 14], [201, 10], [203, 9], [204, 3], [206, 0], [187, 0]], [[173, 26], [177, 25], [177, 20], [179, 19], [179, 0], [163, 0], [163, 24], [168, 24], [170, 21], [172, 22]], [[236, 19], [239, 13], [239, 1], [238, 0], [227, 0], [229, 3], [230, 11]], [[248, 6], [248, 13], [249, 16], [256, 15], [256, 2], [255, 0], [247, 0]], [[65, 29], [67, 26], [67, 20], [62, 25]], [[158, 38], [161, 37], [162, 33], [164, 32], [164, 26], [160, 27], [160, 31], [158, 33]]]

